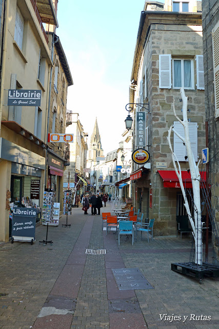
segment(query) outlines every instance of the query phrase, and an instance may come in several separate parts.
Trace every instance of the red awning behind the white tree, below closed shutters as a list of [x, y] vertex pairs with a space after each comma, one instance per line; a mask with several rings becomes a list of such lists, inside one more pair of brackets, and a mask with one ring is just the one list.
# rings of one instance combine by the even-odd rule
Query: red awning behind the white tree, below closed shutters
[[[175, 170], [158, 170], [164, 181], [164, 187], [180, 188], [180, 182], [176, 176]], [[187, 189], [192, 188], [191, 175], [188, 171], [182, 171], [183, 186]], [[202, 179], [206, 182], [206, 172], [200, 172]]]

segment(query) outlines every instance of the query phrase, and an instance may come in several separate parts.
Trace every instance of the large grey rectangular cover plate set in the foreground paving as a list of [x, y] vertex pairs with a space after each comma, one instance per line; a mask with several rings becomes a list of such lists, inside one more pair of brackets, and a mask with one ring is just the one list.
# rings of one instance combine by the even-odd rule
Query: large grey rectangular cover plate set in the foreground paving
[[154, 289], [139, 268], [112, 268], [119, 290]]

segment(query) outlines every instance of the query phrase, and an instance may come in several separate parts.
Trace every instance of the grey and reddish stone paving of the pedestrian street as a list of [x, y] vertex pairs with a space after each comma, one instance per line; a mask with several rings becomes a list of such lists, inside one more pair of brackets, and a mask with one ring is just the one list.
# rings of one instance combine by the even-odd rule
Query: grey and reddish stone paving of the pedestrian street
[[[110, 203], [102, 211], [110, 211]], [[49, 227], [53, 245], [0, 245], [0, 329], [218, 329], [218, 279], [171, 271], [189, 260], [189, 238], [143, 236], [132, 246], [102, 232], [102, 216], [73, 208], [71, 227]], [[106, 254], [86, 254], [86, 249]], [[209, 259], [210, 261], [210, 259]], [[154, 289], [119, 290], [112, 268], [138, 267]], [[209, 318], [207, 318], [209, 317]]]

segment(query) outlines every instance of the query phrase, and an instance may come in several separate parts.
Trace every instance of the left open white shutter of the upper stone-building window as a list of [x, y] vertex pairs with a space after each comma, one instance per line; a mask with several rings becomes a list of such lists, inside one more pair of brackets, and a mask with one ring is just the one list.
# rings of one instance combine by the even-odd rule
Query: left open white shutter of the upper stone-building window
[[159, 88], [171, 88], [171, 55], [159, 55]]

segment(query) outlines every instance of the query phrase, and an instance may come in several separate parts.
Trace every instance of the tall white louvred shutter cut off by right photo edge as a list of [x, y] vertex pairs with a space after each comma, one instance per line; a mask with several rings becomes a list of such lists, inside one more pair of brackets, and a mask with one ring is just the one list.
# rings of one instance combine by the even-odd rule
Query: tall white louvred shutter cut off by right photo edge
[[219, 117], [219, 22], [212, 29], [215, 118]]

